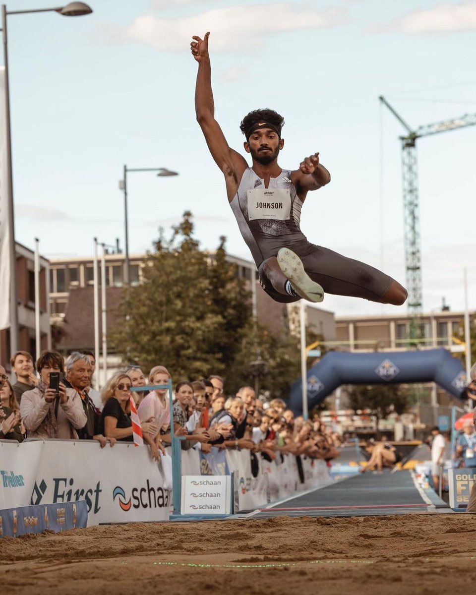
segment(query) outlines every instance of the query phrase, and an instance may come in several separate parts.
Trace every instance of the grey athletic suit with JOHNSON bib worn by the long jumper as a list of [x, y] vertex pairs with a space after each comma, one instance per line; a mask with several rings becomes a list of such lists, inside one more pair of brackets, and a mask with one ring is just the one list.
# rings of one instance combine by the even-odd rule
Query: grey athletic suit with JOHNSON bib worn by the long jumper
[[[274, 193], [276, 189], [278, 192]], [[276, 302], [299, 299], [278, 293], [263, 273], [263, 262], [276, 256], [280, 248], [293, 250], [302, 260], [306, 273], [321, 284], [325, 293], [375, 301], [389, 290], [393, 281], [389, 275], [308, 242], [299, 228], [302, 201], [291, 181], [291, 170], [283, 170], [280, 176], [271, 178], [265, 189], [264, 180], [249, 167], [230, 206], [258, 267], [261, 286]]]

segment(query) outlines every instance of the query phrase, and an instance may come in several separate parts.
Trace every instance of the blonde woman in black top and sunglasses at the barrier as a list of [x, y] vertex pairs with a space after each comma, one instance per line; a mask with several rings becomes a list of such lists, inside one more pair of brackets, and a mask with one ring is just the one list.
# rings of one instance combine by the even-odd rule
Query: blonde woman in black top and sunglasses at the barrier
[[[130, 398], [132, 381], [126, 372], [120, 371], [112, 375], [102, 389], [104, 407], [99, 420], [99, 433], [108, 440], [133, 442], [132, 420], [130, 418]], [[159, 459], [159, 452], [165, 453], [162, 444], [154, 441], [158, 427], [154, 421], [148, 420], [140, 424], [143, 441], [149, 445], [153, 459]]]

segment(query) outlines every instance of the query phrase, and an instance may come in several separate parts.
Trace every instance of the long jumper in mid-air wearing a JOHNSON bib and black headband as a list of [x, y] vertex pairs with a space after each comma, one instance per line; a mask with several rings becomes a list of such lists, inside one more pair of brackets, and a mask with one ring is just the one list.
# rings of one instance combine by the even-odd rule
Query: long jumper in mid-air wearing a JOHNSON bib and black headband
[[309, 190], [330, 181], [319, 154], [306, 157], [297, 170], [283, 170], [277, 158], [284, 146], [284, 120], [271, 109], [256, 109], [243, 118], [245, 158], [228, 146], [214, 116], [208, 36], [193, 36], [198, 62], [195, 109], [212, 157], [225, 176], [228, 201], [243, 239], [258, 267], [261, 286], [277, 302], [301, 297], [321, 302], [324, 292], [364, 297], [401, 305], [407, 292], [397, 281], [364, 262], [315, 246], [299, 228], [302, 204]]

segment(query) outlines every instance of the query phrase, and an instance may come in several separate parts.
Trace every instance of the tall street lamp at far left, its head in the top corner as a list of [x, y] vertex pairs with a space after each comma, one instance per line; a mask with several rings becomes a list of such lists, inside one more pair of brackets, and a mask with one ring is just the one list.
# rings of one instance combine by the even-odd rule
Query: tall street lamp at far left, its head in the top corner
[[7, 192], [8, 192], [8, 232], [10, 248], [10, 353], [18, 351], [18, 297], [17, 297], [17, 256], [15, 251], [15, 224], [13, 211], [13, 174], [11, 164], [11, 133], [10, 133], [10, 89], [8, 85], [8, 48], [7, 48], [7, 16], [11, 14], [27, 14], [29, 12], [58, 12], [64, 17], [80, 17], [90, 14], [90, 8], [84, 2], [70, 2], [62, 7], [36, 8], [33, 10], [7, 11], [2, 4], [2, 38], [4, 48], [5, 68], [5, 133], [7, 136]]

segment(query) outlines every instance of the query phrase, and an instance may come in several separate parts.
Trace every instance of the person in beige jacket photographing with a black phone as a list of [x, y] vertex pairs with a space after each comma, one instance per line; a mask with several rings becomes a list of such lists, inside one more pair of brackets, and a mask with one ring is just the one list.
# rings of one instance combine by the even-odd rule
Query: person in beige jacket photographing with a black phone
[[30, 438], [77, 439], [77, 430], [86, 425], [87, 417], [76, 390], [60, 382], [60, 390], [49, 387], [50, 372], [62, 372], [64, 359], [56, 351], [43, 352], [36, 362], [40, 381], [33, 390], [23, 393], [20, 414]]

